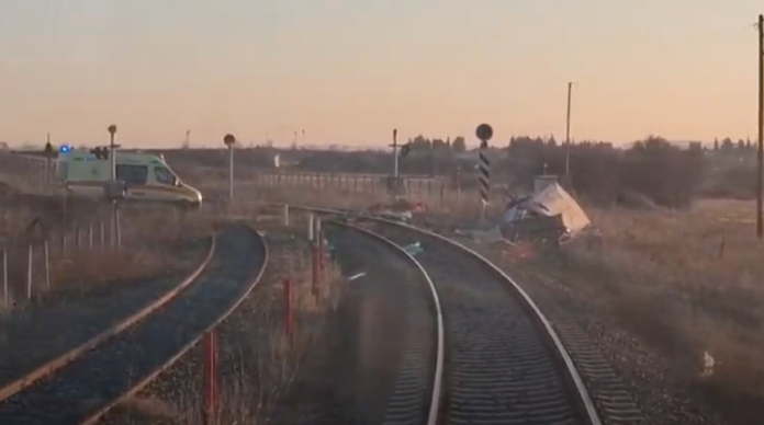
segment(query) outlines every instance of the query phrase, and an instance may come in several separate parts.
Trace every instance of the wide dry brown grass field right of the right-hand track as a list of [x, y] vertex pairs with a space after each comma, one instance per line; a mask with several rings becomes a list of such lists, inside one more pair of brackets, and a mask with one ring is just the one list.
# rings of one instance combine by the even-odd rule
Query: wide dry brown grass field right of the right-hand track
[[[384, 199], [338, 191], [259, 193], [268, 202], [356, 209]], [[430, 209], [447, 228], [474, 222], [471, 202]], [[587, 211], [602, 231], [596, 243], [517, 246], [515, 265], [572, 289], [591, 311], [660, 352], [679, 380], [720, 406], [764, 400], [764, 243], [754, 237], [752, 204], [701, 200], [692, 211]], [[716, 360], [710, 376], [701, 376], [705, 352]]]

